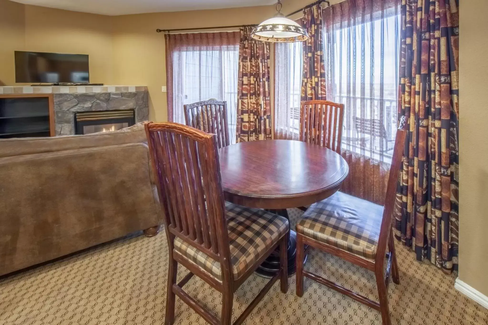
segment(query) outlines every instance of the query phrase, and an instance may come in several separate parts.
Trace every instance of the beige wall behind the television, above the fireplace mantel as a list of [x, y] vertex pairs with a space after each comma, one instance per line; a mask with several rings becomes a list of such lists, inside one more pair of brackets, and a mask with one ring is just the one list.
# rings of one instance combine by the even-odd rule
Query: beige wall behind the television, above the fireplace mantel
[[16, 50], [88, 54], [90, 81], [114, 83], [111, 19], [0, 0], [0, 84], [15, 84]]

